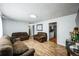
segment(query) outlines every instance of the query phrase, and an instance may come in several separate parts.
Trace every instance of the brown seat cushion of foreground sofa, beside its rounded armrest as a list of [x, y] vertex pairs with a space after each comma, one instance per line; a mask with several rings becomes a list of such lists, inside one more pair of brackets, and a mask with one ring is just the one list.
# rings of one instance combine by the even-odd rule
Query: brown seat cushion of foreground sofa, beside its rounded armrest
[[14, 55], [20, 55], [20, 54], [24, 53], [25, 51], [28, 51], [28, 47], [22, 41], [16, 41], [13, 44], [13, 54]]

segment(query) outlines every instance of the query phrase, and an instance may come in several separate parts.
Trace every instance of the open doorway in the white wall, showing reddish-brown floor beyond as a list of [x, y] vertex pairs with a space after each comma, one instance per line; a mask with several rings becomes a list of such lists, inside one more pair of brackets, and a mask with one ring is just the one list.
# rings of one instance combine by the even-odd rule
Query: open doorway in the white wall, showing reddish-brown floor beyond
[[57, 22], [49, 23], [49, 40], [57, 43]]

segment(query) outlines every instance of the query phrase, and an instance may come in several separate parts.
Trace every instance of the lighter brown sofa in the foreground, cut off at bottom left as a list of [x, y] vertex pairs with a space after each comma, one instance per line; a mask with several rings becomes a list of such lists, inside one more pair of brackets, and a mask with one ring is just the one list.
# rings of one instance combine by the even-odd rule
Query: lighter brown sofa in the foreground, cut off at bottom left
[[10, 37], [0, 38], [0, 56], [33, 56], [35, 50], [28, 48], [23, 41], [11, 43]]

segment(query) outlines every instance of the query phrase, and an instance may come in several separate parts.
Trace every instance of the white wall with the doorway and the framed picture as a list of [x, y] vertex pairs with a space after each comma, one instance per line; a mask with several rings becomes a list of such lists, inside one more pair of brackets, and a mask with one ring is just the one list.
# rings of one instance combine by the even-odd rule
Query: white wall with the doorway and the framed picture
[[49, 40], [49, 23], [57, 22], [57, 44], [64, 45], [65, 46], [65, 40], [70, 38], [69, 32], [73, 30], [73, 28], [76, 26], [75, 22], [76, 14], [67, 15], [63, 17], [59, 17], [56, 19], [50, 19], [47, 21], [42, 21], [39, 23], [35, 23], [35, 34], [39, 31], [36, 30], [37, 24], [43, 24], [43, 31], [46, 32], [48, 35]]

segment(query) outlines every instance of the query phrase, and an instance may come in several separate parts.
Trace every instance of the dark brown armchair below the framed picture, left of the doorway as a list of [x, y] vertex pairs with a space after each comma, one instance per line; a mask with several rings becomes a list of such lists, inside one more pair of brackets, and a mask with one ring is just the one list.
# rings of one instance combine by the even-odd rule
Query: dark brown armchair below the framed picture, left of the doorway
[[41, 43], [47, 41], [47, 33], [38, 32], [36, 35], [34, 35], [34, 40], [37, 40]]

